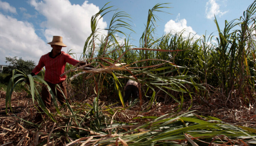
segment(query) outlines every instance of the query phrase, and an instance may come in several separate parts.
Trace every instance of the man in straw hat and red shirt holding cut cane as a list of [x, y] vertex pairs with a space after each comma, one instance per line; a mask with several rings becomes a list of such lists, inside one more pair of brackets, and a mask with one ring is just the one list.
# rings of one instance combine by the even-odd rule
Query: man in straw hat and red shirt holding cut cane
[[[41, 71], [41, 69], [45, 67], [44, 80], [46, 81], [48, 86], [52, 89], [55, 96], [56, 96], [55, 85], [58, 84], [60, 86], [60, 89], [56, 87], [56, 90], [57, 90], [57, 99], [62, 105], [66, 103], [65, 97], [67, 98], [68, 95], [67, 95], [67, 89], [66, 89], [67, 84], [65, 82], [66, 75], [63, 75], [63, 76], [60, 76], [60, 75], [64, 73], [67, 62], [74, 66], [77, 63], [79, 63], [79, 61], [73, 59], [69, 54], [61, 51], [62, 47], [67, 47], [67, 45], [62, 43], [61, 36], [53, 36], [53, 41], [48, 42], [48, 44], [51, 45], [52, 51], [43, 55], [40, 58], [38, 65], [33, 69], [33, 71], [31, 72], [31, 75], [32, 76], [37, 75]], [[83, 65], [86, 65], [86, 63], [80, 62], [79, 65], [83, 66]], [[87, 67], [94, 68], [93, 66], [90, 66], [90, 65]], [[60, 90], [64, 93], [65, 97], [63, 96]], [[45, 106], [48, 109], [50, 109], [52, 98], [46, 86], [42, 87], [41, 97]], [[41, 108], [40, 108], [40, 111], [42, 112]], [[35, 120], [36, 120], [36, 123], [42, 121], [42, 116], [40, 115], [40, 113], [37, 113]]]

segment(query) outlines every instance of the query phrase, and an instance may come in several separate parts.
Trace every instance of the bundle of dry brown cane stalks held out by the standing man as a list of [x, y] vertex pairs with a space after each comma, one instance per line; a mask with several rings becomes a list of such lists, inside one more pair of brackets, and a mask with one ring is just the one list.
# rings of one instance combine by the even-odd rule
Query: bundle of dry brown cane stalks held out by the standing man
[[[159, 52], [179, 52], [179, 51], [182, 51], [182, 50], [161, 50], [161, 49], [147, 49], [147, 48], [133, 48], [133, 49], [129, 49], [129, 50], [148, 50], [148, 51], [159, 51]], [[122, 77], [122, 75], [120, 74], [116, 74], [114, 71], [128, 71], [130, 73], [131, 76], [133, 76], [133, 80], [137, 81], [139, 86], [141, 86], [141, 83], [140, 81], [138, 80], [138, 78], [136, 77], [136, 75], [134, 74], [140, 74], [140, 73], [143, 73], [143, 71], [141, 71], [140, 69], [156, 69], [162, 65], [164, 65], [165, 63], [169, 63], [171, 64], [172, 66], [176, 66], [174, 63], [170, 62], [170, 61], [167, 61], [167, 60], [163, 60], [163, 59], [144, 59], [144, 60], [139, 60], [139, 61], [136, 61], [136, 62], [133, 62], [133, 63], [130, 63], [129, 65], [127, 65], [126, 63], [121, 63], [119, 62], [119, 60], [121, 59], [121, 57], [129, 50], [126, 50], [122, 55], [120, 55], [116, 60], [114, 59], [111, 59], [111, 58], [108, 58], [108, 57], [97, 57], [97, 58], [90, 58], [90, 59], [87, 59], [87, 60], [101, 60], [105, 63], [107, 63], [109, 66], [104, 66], [101, 62], [99, 61], [95, 61], [95, 62], [91, 62], [91, 63], [88, 63], [84, 66], [81, 66], [81, 67], [78, 67], [78, 65], [75, 65], [74, 68], [71, 68], [70, 70], [66, 71], [65, 73], [63, 73], [61, 76], [63, 75], [66, 75], [70, 72], [74, 72], [74, 71], [80, 71], [78, 74], [75, 74], [73, 75], [70, 80], [74, 79], [75, 77], [79, 76], [79, 75], [82, 75], [82, 74], [85, 74], [85, 73], [89, 73], [89, 75], [87, 77], [85, 77], [85, 79], [88, 79], [90, 77], [93, 77], [94, 75], [96, 74], [99, 74], [99, 73], [109, 73], [109, 74], [112, 74], [115, 78], [115, 81], [117, 78], [120, 78]], [[176, 53], [177, 54], [177, 53]], [[175, 56], [175, 55], [174, 55]], [[113, 61], [113, 63], [107, 61], [107, 60], [111, 60]], [[172, 58], [171, 58], [172, 59]], [[86, 61], [87, 61], [86, 60]], [[133, 64], [135, 63], [138, 63], [138, 62], [143, 62], [143, 61], [149, 61], [149, 60], [155, 60], [155, 61], [161, 61], [162, 63], [159, 63], [159, 64], [156, 64], [156, 65], [151, 65], [151, 66], [144, 66], [144, 67], [130, 67], [132, 66]], [[88, 68], [87, 66], [91, 65], [91, 64], [97, 64], [97, 66], [95, 68]], [[177, 67], [177, 66], [176, 66]], [[138, 69], [138, 70], [136, 70]], [[179, 70], [179, 68], [177, 67], [177, 69]], [[123, 76], [124, 77], [124, 76]], [[126, 78], [129, 78], [131, 79], [130, 77], [128, 76], [125, 76]], [[116, 86], [117, 86], [117, 83], [116, 83]], [[120, 94], [119, 96], [122, 96], [120, 91], [118, 91], [118, 93]], [[142, 93], [141, 93], [141, 90], [139, 88], [139, 97], [140, 97], [140, 106], [142, 104]], [[123, 99], [121, 99], [121, 102], [124, 106], [124, 102], [123, 102]]]

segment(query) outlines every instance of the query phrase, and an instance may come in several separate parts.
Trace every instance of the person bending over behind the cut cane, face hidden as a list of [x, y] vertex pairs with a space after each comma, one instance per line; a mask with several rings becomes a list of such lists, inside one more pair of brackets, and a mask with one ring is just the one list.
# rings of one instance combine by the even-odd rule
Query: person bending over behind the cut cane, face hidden
[[139, 96], [140, 84], [134, 80], [128, 80], [125, 86], [125, 97], [124, 102], [127, 102], [131, 95], [136, 99]]

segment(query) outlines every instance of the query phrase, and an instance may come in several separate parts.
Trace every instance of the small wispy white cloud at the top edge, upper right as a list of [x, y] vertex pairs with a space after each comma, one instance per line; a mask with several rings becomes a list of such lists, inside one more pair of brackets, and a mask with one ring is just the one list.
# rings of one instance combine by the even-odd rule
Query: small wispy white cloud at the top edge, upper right
[[209, 0], [206, 3], [205, 7], [206, 7], [205, 8], [206, 18], [208, 19], [212, 19], [214, 17], [214, 14], [215, 16], [221, 17], [222, 15], [228, 12], [228, 11], [222, 12], [221, 10], [219, 10], [219, 4], [216, 3], [216, 0]]

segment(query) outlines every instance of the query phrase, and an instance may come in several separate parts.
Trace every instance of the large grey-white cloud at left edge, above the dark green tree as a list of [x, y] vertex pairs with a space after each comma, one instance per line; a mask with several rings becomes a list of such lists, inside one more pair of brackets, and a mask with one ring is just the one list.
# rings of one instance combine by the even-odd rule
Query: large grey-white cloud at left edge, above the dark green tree
[[0, 64], [5, 64], [5, 57], [9, 56], [38, 62], [40, 56], [48, 52], [48, 46], [35, 34], [31, 23], [1, 13], [0, 20]]

